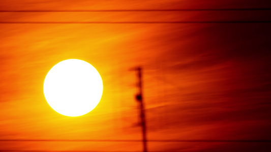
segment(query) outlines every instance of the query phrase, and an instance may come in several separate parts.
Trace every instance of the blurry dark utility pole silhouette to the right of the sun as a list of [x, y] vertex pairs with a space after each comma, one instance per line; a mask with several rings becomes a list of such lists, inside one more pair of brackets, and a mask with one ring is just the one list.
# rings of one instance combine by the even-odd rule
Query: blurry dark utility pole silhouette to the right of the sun
[[137, 71], [138, 77], [138, 94], [136, 94], [136, 100], [139, 102], [140, 108], [140, 118], [141, 118], [141, 126], [142, 126], [142, 141], [143, 141], [143, 151], [147, 152], [147, 137], [146, 137], [146, 120], [145, 120], [145, 109], [143, 103], [143, 87], [142, 87], [142, 68], [137, 67], [134, 68]]

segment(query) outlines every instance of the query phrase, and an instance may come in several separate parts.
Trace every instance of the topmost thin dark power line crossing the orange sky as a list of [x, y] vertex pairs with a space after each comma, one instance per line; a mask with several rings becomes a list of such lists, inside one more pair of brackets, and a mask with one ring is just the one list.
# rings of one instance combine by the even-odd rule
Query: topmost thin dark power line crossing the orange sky
[[0, 12], [182, 12], [182, 11], [270, 11], [271, 8], [243, 8], [243, 9], [137, 9], [137, 10], [0, 10]]

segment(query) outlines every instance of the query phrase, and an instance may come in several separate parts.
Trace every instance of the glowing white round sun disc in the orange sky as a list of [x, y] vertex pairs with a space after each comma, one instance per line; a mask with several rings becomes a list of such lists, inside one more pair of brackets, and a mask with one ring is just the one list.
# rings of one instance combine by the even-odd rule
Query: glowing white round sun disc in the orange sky
[[48, 104], [65, 116], [82, 116], [93, 110], [103, 93], [99, 72], [91, 64], [69, 59], [55, 64], [47, 73], [44, 96]]

